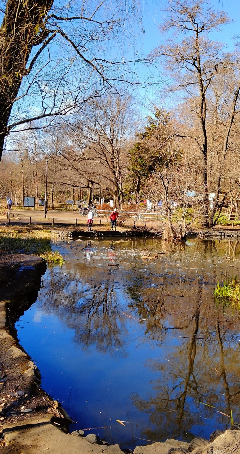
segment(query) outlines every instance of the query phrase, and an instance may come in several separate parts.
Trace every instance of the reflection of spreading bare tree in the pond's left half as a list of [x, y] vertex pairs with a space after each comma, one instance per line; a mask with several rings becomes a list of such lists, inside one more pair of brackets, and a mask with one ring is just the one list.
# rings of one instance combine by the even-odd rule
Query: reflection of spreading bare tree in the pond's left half
[[[88, 271], [87, 275], [84, 271]], [[114, 279], [108, 273], [102, 283], [97, 276], [94, 279], [93, 272], [89, 273], [84, 266], [81, 272], [74, 268], [63, 275], [49, 270], [50, 285], [44, 295], [44, 310], [57, 310], [60, 320], [74, 330], [75, 342], [86, 347], [95, 343], [103, 352], [122, 349], [125, 329]]]

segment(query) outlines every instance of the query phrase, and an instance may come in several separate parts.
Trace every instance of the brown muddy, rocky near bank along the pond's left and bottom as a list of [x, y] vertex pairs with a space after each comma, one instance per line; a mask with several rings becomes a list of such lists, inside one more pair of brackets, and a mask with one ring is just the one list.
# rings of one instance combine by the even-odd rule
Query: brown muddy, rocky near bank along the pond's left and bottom
[[[40, 453], [122, 453], [118, 445], [69, 434], [71, 419], [40, 387], [40, 372], [20, 346], [15, 321], [35, 301], [46, 270], [43, 259], [22, 254], [0, 255], [0, 452]], [[34, 336], [34, 333], [33, 333]], [[37, 340], [36, 340], [37, 341]], [[59, 430], [59, 429], [62, 430]], [[136, 454], [194, 454], [215, 452], [240, 453], [240, 430], [235, 426], [219, 435], [211, 444], [195, 439], [195, 444], [176, 440], [137, 446]], [[77, 436], [74, 436], [77, 435]], [[89, 440], [88, 440], [89, 438]], [[91, 439], [91, 441], [90, 441]], [[11, 444], [11, 451], [6, 446]], [[228, 447], [226, 450], [226, 446]], [[209, 450], [210, 449], [210, 450]], [[222, 449], [220, 451], [219, 449]], [[129, 451], [128, 451], [129, 452]]]

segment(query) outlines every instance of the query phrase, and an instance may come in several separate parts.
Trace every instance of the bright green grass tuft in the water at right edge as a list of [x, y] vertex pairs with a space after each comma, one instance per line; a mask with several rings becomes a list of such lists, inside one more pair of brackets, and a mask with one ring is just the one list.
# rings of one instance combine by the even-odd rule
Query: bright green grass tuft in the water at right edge
[[217, 283], [214, 296], [224, 302], [225, 307], [238, 307], [240, 309], [240, 279], [238, 276], [227, 279], [223, 286]]

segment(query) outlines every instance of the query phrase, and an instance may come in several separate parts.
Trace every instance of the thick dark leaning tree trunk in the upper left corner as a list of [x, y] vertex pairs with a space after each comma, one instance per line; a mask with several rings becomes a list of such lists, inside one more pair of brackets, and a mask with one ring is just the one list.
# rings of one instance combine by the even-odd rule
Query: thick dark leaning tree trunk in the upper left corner
[[0, 161], [7, 125], [34, 44], [42, 44], [39, 30], [53, 0], [8, 0], [0, 27]]

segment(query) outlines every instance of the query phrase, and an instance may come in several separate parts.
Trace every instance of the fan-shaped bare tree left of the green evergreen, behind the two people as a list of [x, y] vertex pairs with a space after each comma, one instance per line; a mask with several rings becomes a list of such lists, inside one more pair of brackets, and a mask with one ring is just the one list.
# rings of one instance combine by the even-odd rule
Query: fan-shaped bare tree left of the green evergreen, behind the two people
[[[131, 104], [130, 95], [121, 97], [107, 94], [88, 105], [85, 121], [79, 120], [71, 126], [71, 141], [82, 146], [79, 157], [88, 168], [92, 161], [92, 171], [89, 172], [86, 168], [88, 181], [104, 182], [106, 188], [113, 193], [118, 207], [122, 207], [124, 203], [127, 152], [131, 139], [134, 140], [135, 116]], [[89, 180], [91, 173], [95, 173], [95, 177]]]

